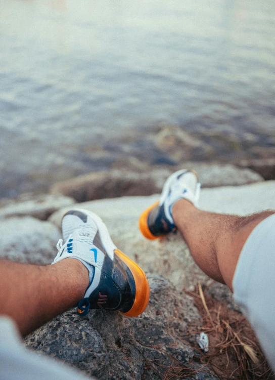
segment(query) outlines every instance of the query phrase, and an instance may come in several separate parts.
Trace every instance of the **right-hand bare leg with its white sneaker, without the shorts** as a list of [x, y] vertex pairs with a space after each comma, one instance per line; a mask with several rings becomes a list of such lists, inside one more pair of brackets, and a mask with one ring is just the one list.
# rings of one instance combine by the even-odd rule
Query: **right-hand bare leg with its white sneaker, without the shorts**
[[179, 170], [167, 178], [160, 200], [140, 217], [140, 230], [157, 239], [178, 229], [198, 266], [231, 290], [241, 250], [252, 230], [275, 211], [248, 217], [221, 215], [198, 209], [200, 184], [194, 171]]

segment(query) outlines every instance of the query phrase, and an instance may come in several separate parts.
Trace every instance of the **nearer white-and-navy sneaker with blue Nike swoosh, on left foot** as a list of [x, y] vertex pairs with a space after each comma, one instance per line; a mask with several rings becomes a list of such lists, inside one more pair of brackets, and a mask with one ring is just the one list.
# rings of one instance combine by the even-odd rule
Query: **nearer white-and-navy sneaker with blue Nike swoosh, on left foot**
[[89, 286], [78, 303], [78, 314], [89, 309], [119, 310], [129, 317], [144, 312], [150, 288], [144, 271], [113, 243], [106, 225], [94, 213], [68, 211], [61, 222], [65, 240], [57, 243], [52, 264], [63, 259], [79, 260], [89, 272]]

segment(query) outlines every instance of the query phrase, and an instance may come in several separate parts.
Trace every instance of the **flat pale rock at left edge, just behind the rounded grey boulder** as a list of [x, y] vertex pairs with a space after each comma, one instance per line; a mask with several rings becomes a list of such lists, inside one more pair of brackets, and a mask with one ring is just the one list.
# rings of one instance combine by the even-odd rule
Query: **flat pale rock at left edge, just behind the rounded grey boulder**
[[17, 199], [0, 201], [0, 219], [8, 217], [31, 216], [47, 220], [59, 208], [70, 206], [75, 200], [60, 194], [23, 194]]

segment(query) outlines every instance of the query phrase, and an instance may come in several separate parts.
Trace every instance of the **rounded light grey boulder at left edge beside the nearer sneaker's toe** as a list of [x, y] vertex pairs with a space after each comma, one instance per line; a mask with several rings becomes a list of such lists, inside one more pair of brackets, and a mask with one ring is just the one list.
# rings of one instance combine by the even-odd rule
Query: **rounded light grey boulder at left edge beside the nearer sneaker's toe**
[[31, 217], [0, 220], [0, 258], [50, 264], [57, 254], [59, 229]]

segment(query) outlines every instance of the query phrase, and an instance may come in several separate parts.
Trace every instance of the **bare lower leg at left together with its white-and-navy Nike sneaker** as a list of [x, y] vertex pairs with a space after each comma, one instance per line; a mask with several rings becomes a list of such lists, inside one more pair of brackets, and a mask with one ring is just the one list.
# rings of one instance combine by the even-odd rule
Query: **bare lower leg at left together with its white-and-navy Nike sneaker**
[[89, 309], [143, 313], [150, 294], [146, 275], [117, 249], [96, 214], [68, 211], [62, 234], [53, 265], [0, 260], [0, 315], [13, 318], [26, 335], [77, 303], [80, 316]]

